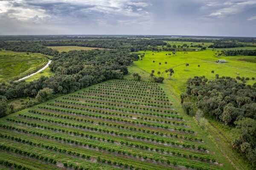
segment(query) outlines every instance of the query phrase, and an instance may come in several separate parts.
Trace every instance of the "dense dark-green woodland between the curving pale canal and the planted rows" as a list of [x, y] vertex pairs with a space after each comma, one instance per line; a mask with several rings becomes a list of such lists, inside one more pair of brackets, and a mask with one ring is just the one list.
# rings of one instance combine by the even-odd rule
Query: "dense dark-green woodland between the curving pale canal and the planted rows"
[[52, 77], [41, 77], [33, 82], [9, 82], [0, 85], [0, 95], [7, 99], [36, 96], [43, 88], [53, 93], [72, 93], [81, 88], [108, 80], [120, 79], [128, 73], [130, 65], [138, 56], [128, 51], [91, 50], [69, 51], [56, 54], [49, 65], [55, 72]]

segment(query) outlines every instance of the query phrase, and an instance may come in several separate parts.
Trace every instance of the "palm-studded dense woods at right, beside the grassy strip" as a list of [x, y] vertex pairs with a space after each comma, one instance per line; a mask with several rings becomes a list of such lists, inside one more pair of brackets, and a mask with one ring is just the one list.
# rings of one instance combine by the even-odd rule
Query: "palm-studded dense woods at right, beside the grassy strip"
[[213, 81], [194, 77], [187, 83], [185, 94], [180, 95], [186, 113], [195, 115], [199, 109], [225, 125], [236, 125], [232, 146], [256, 166], [256, 83], [245, 85], [218, 76]]

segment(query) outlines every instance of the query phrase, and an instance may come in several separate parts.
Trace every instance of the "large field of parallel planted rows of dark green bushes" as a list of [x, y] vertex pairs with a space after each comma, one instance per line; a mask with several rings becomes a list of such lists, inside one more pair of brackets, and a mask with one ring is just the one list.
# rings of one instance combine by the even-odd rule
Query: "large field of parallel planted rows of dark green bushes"
[[153, 82], [112, 80], [0, 119], [0, 167], [221, 169]]

